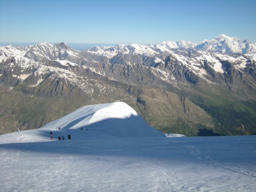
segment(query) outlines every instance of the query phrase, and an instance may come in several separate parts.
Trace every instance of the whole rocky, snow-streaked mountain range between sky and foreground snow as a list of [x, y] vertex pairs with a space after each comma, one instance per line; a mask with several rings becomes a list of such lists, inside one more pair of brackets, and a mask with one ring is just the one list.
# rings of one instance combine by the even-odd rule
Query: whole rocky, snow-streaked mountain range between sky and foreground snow
[[[201, 121], [199, 119], [208, 119], [204, 121], [204, 126], [216, 131], [216, 125], [213, 126], [215, 120], [208, 114], [209, 112], [215, 114], [209, 110], [212, 103], [217, 106], [219, 101], [227, 103], [224, 100], [228, 94], [229, 102], [234, 102], [234, 99], [238, 101], [256, 99], [255, 43], [219, 35], [213, 40], [205, 40], [199, 44], [180, 40], [164, 41], [157, 45], [94, 47], [83, 51], [73, 50], [65, 43], [2, 46], [0, 47], [0, 83], [0, 88], [4, 91], [14, 93], [18, 91], [19, 94], [24, 94], [23, 96], [35, 97], [35, 99], [36, 97], [48, 99], [75, 97], [83, 101], [81, 105], [111, 102], [121, 98], [133, 103], [141, 111], [141, 115], [148, 118], [146, 121], [153, 121], [151, 126], [155, 124], [159, 129], [162, 126], [169, 127], [174, 121], [178, 123], [183, 119], [190, 122], [190, 126], [193, 124], [193, 134], [196, 134], [197, 122]], [[156, 91], [156, 88], [161, 90]], [[154, 100], [156, 93], [160, 94], [159, 99]], [[170, 93], [175, 96], [169, 96]], [[146, 94], [152, 96], [146, 97]], [[216, 97], [221, 99], [216, 100]], [[175, 98], [178, 102], [169, 101], [168, 99], [171, 98]], [[188, 102], [193, 101], [186, 103], [186, 99]], [[168, 109], [162, 112], [166, 115], [159, 114], [159, 118], [151, 118], [152, 111], [157, 111], [155, 107], [163, 104], [156, 104], [156, 101], [174, 102], [172, 104], [177, 105], [176, 111], [169, 111], [174, 107], [170, 104], [167, 106]], [[194, 107], [191, 106], [192, 103]], [[6, 110], [10, 110], [8, 105], [5, 105]], [[16, 108], [17, 104], [13, 107]], [[205, 113], [202, 107], [204, 110], [209, 110], [208, 113]], [[198, 113], [199, 111], [202, 113]], [[175, 118], [172, 121], [168, 120], [170, 113], [173, 113], [171, 117]], [[16, 112], [10, 111], [8, 117], [12, 116], [10, 119], [13, 119], [15, 114]], [[24, 119], [22, 121], [27, 123], [20, 122], [21, 120], [17, 119], [13, 129], [40, 127], [53, 120], [43, 116], [45, 115], [42, 112], [40, 120], [33, 123]], [[8, 117], [6, 116], [5, 119]], [[158, 122], [156, 119], [162, 120]], [[10, 125], [13, 124], [11, 122], [10, 120]], [[1, 129], [8, 130], [10, 125], [3, 123]], [[181, 126], [188, 127], [185, 124]], [[241, 127], [244, 127], [244, 123], [237, 122], [236, 129], [240, 130], [238, 132], [256, 132], [254, 129], [248, 131]], [[176, 133], [184, 134], [184, 132]], [[224, 131], [222, 134], [231, 133]]]

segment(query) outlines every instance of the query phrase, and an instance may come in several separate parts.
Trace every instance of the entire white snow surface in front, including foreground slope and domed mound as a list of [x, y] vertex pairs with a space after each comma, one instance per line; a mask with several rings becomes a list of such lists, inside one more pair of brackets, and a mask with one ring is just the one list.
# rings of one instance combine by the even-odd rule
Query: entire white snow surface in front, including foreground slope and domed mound
[[1, 191], [256, 189], [256, 136], [165, 137], [137, 118], [124, 103], [98, 104], [1, 135]]

